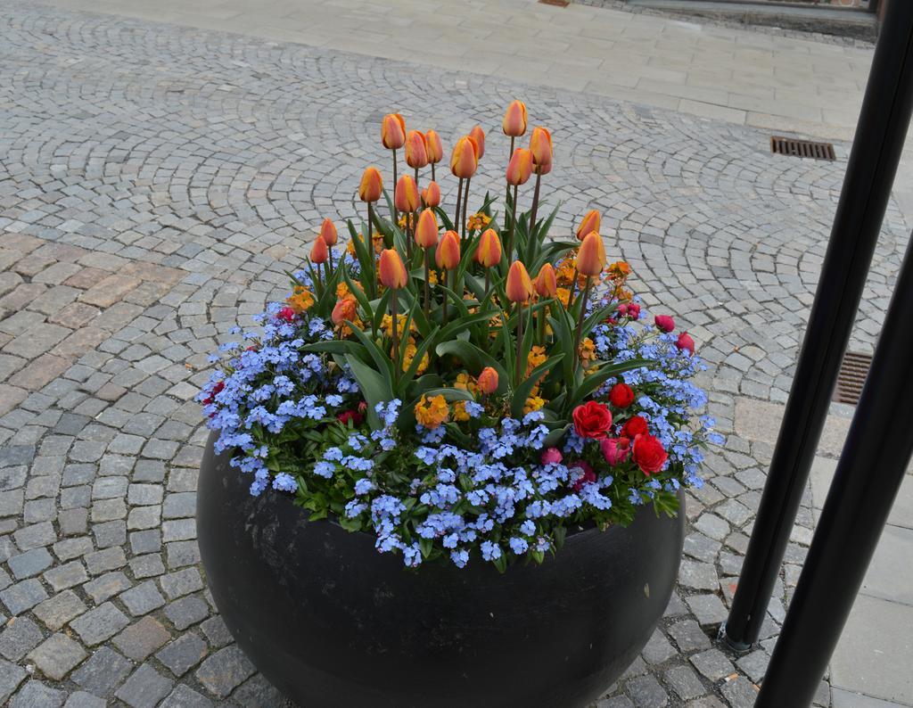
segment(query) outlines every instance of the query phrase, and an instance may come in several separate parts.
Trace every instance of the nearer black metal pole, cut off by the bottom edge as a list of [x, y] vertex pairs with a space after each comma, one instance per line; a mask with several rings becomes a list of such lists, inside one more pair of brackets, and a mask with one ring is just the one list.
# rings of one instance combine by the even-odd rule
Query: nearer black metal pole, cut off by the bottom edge
[[913, 457], [910, 322], [913, 244], [755, 708], [812, 703], [866, 576]]

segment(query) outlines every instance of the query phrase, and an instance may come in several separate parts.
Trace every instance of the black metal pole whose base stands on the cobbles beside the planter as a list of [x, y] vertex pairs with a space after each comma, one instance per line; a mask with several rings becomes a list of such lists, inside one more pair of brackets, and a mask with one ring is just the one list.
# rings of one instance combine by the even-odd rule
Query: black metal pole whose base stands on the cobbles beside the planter
[[885, 216], [913, 110], [913, 2], [892, 2], [878, 37], [821, 280], [739, 586], [723, 627], [747, 650], [780, 573]]

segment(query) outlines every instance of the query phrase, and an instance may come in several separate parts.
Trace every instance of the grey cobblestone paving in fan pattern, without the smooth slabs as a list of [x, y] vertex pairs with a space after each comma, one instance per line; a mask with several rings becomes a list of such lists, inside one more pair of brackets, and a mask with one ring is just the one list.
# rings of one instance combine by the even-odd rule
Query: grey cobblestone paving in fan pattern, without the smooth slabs
[[[7, 2], [0, 19], [0, 703], [276, 706], [232, 643], [195, 544], [207, 354], [284, 295], [320, 218], [355, 213], [383, 112], [444, 136], [509, 100], [551, 127], [558, 231], [588, 207], [709, 369], [727, 436], [689, 498], [662, 626], [601, 708], [747, 706], [811, 537], [811, 496], [762, 648], [725, 616], [845, 169], [765, 133], [324, 48]], [[508, 146], [492, 134], [480, 198]], [[501, 153], [501, 155], [498, 155]], [[445, 186], [452, 189], [454, 185]], [[451, 195], [448, 195], [451, 196]], [[522, 197], [521, 197], [522, 198]], [[527, 195], [529, 198], [529, 195]], [[892, 206], [854, 348], [906, 242]], [[839, 412], [839, 411], [838, 411]], [[822, 453], [839, 450], [834, 417]], [[841, 427], [843, 426], [843, 427]], [[772, 432], [771, 432], [772, 431]], [[608, 697], [611, 696], [611, 697]], [[828, 705], [822, 686], [818, 703]]]

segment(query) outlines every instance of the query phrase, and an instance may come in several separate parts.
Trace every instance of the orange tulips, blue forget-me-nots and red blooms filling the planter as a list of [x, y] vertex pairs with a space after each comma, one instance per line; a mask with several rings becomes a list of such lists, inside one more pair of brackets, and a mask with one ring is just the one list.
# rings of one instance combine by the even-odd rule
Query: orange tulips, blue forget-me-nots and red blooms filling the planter
[[[478, 556], [503, 571], [583, 525], [631, 523], [641, 505], [674, 514], [679, 487], [700, 485], [715, 436], [689, 380], [694, 341], [668, 315], [647, 322], [630, 267], [606, 262], [598, 211], [576, 238], [548, 237], [551, 134], [515, 148], [527, 127], [515, 100], [501, 221], [500, 197], [468, 208], [481, 128], [454, 144], [451, 217], [436, 132], [383, 119], [393, 198], [368, 167], [348, 244], [325, 219], [288, 299], [220, 347], [198, 398], [252, 494], [292, 493], [310, 519], [371, 531], [405, 565]], [[401, 151], [410, 169], [397, 175]]]

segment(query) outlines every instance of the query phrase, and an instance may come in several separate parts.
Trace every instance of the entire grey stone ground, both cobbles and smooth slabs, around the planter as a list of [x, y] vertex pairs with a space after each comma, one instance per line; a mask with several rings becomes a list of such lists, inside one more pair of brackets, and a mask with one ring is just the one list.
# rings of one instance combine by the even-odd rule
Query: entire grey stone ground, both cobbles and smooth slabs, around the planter
[[[402, 108], [448, 138], [482, 122], [497, 155], [507, 148], [495, 126], [513, 98], [554, 129], [556, 230], [603, 211], [608, 248], [631, 263], [646, 305], [698, 341], [709, 413], [726, 436], [687, 501], [666, 618], [599, 708], [753, 702], [845, 409], [834, 408], [818, 451], [761, 649], [737, 658], [710, 637], [750, 534], [871, 49], [532, 0], [7, 9], [0, 703], [14, 693], [15, 708], [40, 696], [139, 708], [142, 694], [167, 706], [278, 703], [199, 573], [205, 428], [192, 398], [206, 354], [284, 296], [282, 271], [299, 267], [320, 218], [354, 216], [383, 112]], [[771, 155], [770, 134], [790, 130], [834, 140], [837, 161]], [[502, 170], [487, 153], [479, 194]], [[441, 179], [448, 204], [452, 182]], [[910, 185], [913, 173], [889, 207], [854, 349], [876, 341], [908, 240], [898, 206], [913, 223]], [[913, 706], [913, 651], [897, 629], [910, 625], [913, 578], [884, 573], [913, 556], [910, 494], [908, 484], [819, 705]]]

